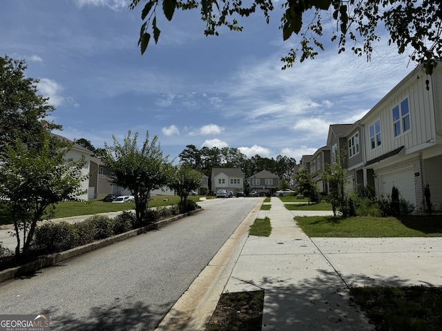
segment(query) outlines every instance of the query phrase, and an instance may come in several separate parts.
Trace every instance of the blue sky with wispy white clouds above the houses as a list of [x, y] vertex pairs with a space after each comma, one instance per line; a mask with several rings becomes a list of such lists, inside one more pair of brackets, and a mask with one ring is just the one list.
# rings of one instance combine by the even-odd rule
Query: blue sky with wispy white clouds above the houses
[[242, 32], [218, 37], [204, 36], [199, 10], [175, 10], [172, 21], [158, 10], [160, 40], [142, 55], [146, 2], [130, 2], [1, 1], [0, 56], [26, 60], [26, 76], [56, 108], [56, 133], [104, 148], [129, 130], [141, 144], [148, 132], [176, 160], [194, 145], [299, 162], [325, 146], [329, 125], [361, 119], [414, 68], [383, 35], [369, 62], [325, 39], [316, 59], [281, 70], [300, 39], [282, 40], [280, 1], [269, 24], [257, 12], [240, 19]]

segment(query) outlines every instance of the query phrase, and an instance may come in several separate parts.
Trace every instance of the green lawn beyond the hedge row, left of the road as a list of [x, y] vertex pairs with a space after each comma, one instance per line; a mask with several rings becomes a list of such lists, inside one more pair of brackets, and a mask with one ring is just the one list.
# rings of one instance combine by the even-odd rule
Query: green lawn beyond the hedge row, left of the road
[[[167, 199], [167, 201], [164, 201]], [[189, 200], [200, 201], [200, 197], [189, 197]], [[180, 197], [171, 195], [155, 195], [149, 201], [149, 207], [159, 207], [164, 205], [176, 205], [180, 202]], [[102, 212], [119, 212], [122, 210], [135, 209], [135, 203], [110, 203], [102, 199], [92, 199], [85, 202], [63, 201], [55, 205], [55, 219], [61, 217], [72, 217], [79, 215], [99, 214]], [[4, 211], [0, 204], [0, 225], [12, 223], [10, 216]]]

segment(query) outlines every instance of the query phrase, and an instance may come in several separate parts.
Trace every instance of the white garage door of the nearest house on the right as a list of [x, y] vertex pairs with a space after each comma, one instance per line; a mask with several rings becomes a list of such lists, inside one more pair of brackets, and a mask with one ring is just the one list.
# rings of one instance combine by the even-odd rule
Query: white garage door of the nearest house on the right
[[379, 188], [383, 194], [392, 194], [393, 186], [399, 190], [403, 199], [416, 205], [416, 190], [414, 188], [414, 170], [407, 168], [396, 172], [389, 172], [380, 176]]

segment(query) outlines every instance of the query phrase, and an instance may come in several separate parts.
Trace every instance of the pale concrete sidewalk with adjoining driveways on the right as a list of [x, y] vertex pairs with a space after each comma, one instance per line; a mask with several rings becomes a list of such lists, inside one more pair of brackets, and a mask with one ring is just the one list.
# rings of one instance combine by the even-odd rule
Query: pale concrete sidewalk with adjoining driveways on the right
[[[363, 285], [442, 285], [442, 238], [309, 238], [277, 197], [270, 237], [249, 237], [224, 292], [265, 290], [262, 330], [373, 330], [349, 301]], [[331, 212], [308, 213], [325, 215]]]

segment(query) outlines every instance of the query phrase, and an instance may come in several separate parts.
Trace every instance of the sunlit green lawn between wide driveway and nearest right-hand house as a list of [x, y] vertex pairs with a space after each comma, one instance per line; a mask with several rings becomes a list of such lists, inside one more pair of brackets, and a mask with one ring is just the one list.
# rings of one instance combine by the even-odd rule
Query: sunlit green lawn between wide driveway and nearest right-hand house
[[440, 216], [408, 217], [296, 217], [309, 237], [380, 238], [442, 237]]

